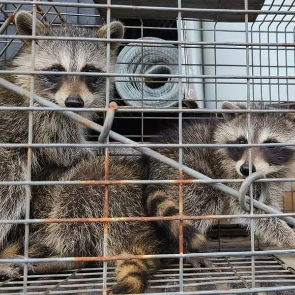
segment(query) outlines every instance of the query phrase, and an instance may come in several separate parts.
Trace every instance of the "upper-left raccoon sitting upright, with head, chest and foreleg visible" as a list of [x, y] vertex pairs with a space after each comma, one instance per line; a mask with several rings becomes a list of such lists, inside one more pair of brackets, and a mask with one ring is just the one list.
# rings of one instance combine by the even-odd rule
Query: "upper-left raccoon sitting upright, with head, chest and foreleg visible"
[[[20, 11], [15, 16], [17, 32], [31, 35], [32, 15]], [[120, 22], [111, 23], [111, 37], [121, 38], [124, 27]], [[66, 37], [107, 36], [107, 27], [87, 29], [75, 26], [49, 27], [36, 20], [36, 35]], [[12, 59], [5, 62], [4, 69], [30, 71], [31, 40], [23, 40], [24, 46]], [[110, 68], [113, 70], [119, 43], [111, 43]], [[102, 42], [37, 40], [35, 44], [35, 70], [49, 70], [52, 75], [34, 76], [34, 93], [62, 107], [103, 107], [106, 95], [106, 80], [98, 76], [61, 76], [59, 71], [105, 72], [106, 45]], [[29, 90], [30, 75], [2, 75], [11, 83]], [[113, 80], [111, 79], [111, 85]], [[29, 99], [0, 87], [0, 105], [29, 106]], [[37, 103], [34, 103], [38, 106]], [[82, 112], [93, 118], [94, 114]], [[58, 112], [32, 112], [33, 143], [85, 143], [86, 130], [79, 123]], [[28, 141], [29, 112], [0, 110], [0, 143], [26, 143]], [[70, 168], [80, 159], [92, 154], [89, 148], [33, 148], [31, 154], [31, 178], [38, 177], [40, 171], [48, 167], [56, 170]], [[26, 148], [0, 148], [0, 181], [22, 181], [27, 175]], [[46, 179], [43, 179], [46, 180]], [[24, 217], [26, 187], [0, 186], [0, 219], [20, 219]], [[12, 230], [13, 229], [13, 230]], [[16, 235], [16, 227], [0, 224], [0, 248], [8, 234]]]

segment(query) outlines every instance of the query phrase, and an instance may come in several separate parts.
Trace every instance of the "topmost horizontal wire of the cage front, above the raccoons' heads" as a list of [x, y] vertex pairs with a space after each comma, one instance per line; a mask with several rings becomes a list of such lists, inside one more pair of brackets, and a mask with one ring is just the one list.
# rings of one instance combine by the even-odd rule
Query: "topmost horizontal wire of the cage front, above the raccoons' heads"
[[[1, 0], [3, 4], [38, 4], [52, 6], [52, 2], [46, 1], [34, 1], [30, 3], [25, 0]], [[175, 12], [217, 12], [217, 13], [238, 13], [238, 14], [291, 14], [294, 15], [294, 11], [283, 10], [254, 10], [254, 9], [208, 9], [208, 8], [178, 8], [178, 7], [162, 7], [162, 6], [136, 6], [136, 5], [117, 5], [117, 4], [90, 4], [90, 3], [67, 3], [67, 2], [54, 2], [55, 6], [61, 7], [85, 7], [85, 8], [113, 8], [113, 9], [127, 9], [127, 10], [163, 10], [163, 11], [175, 11]]]

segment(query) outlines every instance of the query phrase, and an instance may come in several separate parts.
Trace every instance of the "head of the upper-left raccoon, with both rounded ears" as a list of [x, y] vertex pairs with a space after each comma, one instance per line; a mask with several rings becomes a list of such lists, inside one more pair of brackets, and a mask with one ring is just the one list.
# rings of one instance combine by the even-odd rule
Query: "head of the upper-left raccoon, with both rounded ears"
[[[21, 11], [15, 17], [16, 28], [21, 35], [31, 35], [32, 16]], [[124, 27], [120, 22], [111, 23], [111, 38], [122, 38]], [[36, 21], [36, 35], [58, 37], [106, 38], [107, 26], [99, 29], [75, 26], [49, 27]], [[110, 70], [114, 69], [119, 43], [111, 43]], [[104, 42], [37, 40], [35, 43], [35, 70], [51, 71], [51, 75], [36, 75], [34, 92], [62, 107], [104, 107], [106, 77], [95, 73], [106, 72], [107, 51]], [[29, 71], [31, 67], [31, 40], [24, 40], [24, 48], [13, 61], [17, 70]], [[60, 75], [60, 71], [87, 72], [94, 75]], [[18, 75], [18, 84], [29, 89], [30, 77]], [[112, 86], [113, 79], [110, 77]], [[111, 89], [112, 90], [112, 89]]]

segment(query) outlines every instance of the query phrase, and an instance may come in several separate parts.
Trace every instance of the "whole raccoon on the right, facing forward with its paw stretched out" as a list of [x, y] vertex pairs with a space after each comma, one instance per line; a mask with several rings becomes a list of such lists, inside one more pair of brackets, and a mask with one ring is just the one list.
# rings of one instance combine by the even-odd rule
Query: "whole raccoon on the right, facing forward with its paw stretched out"
[[[222, 109], [239, 110], [245, 108], [224, 102]], [[252, 108], [268, 108], [255, 104]], [[247, 133], [246, 114], [225, 114], [224, 121], [211, 119], [207, 122], [190, 121], [183, 123], [183, 144], [247, 144], [251, 143], [295, 143], [295, 114], [252, 113], [251, 137]], [[178, 128], [172, 127], [162, 133], [157, 143], [178, 143]], [[161, 154], [178, 161], [178, 149], [161, 148]], [[183, 148], [183, 165], [188, 166], [213, 179], [244, 178], [249, 175], [249, 148]], [[280, 178], [295, 175], [295, 148], [260, 147], [251, 148], [252, 172], [260, 171], [264, 177]], [[178, 179], [178, 171], [154, 159], [148, 163], [149, 179]], [[191, 178], [184, 174], [184, 178]], [[240, 183], [226, 183], [238, 190]], [[269, 182], [266, 205], [281, 207], [282, 195], [287, 189], [285, 182]], [[253, 197], [258, 199], [260, 183], [253, 184]], [[149, 216], [173, 216], [178, 214], [178, 186], [151, 184], [146, 187], [145, 203]], [[238, 200], [213, 186], [201, 183], [183, 185], [183, 213], [185, 215], [246, 214]], [[257, 210], [258, 214], [264, 213]], [[250, 219], [240, 219], [240, 225], [250, 229]], [[183, 221], [184, 248], [188, 252], [199, 249], [200, 233], [217, 222], [215, 219]], [[178, 241], [178, 221], [158, 222], [167, 237]], [[262, 243], [280, 248], [295, 248], [295, 232], [279, 218], [254, 219], [255, 235]]]

